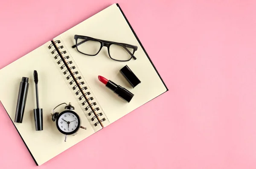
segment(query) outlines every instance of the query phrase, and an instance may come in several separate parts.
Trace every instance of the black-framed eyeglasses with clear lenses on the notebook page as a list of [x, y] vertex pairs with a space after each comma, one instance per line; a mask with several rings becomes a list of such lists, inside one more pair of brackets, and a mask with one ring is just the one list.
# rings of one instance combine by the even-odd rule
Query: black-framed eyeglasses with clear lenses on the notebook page
[[108, 48], [108, 55], [113, 60], [125, 62], [131, 60], [131, 58], [137, 59], [134, 56], [134, 52], [137, 51], [138, 47], [134, 45], [100, 40], [82, 35], [75, 35], [74, 39], [76, 40], [76, 45], [72, 46], [72, 48], [76, 48], [82, 54], [95, 56], [103, 46], [106, 46]]

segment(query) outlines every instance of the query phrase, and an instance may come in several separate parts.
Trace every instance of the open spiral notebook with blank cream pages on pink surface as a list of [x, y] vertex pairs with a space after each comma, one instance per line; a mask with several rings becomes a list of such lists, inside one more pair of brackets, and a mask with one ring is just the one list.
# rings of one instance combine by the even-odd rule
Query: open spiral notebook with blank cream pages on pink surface
[[[72, 48], [76, 44], [75, 34], [138, 46], [134, 54], [137, 60], [111, 60], [106, 54], [106, 48], [93, 57], [81, 54]], [[64, 65], [63, 60], [67, 65]], [[119, 72], [125, 65], [141, 80], [135, 88]], [[77, 72], [74, 74], [75, 79], [69, 76], [68, 69], [72, 73]], [[40, 108], [44, 109], [43, 131], [35, 131], [33, 70], [37, 70], [39, 78]], [[134, 97], [130, 103], [120, 99], [100, 83], [98, 75], [107, 77], [132, 92]], [[5, 79], [0, 83], [0, 101], [13, 122], [21, 77], [29, 77], [29, 91], [23, 123], [14, 125], [37, 165], [54, 158], [168, 90], [118, 4], [100, 11], [0, 70], [0, 78]], [[70, 84], [72, 80], [77, 83]], [[64, 135], [58, 131], [50, 116], [52, 109], [63, 102], [72, 103], [81, 118], [81, 125], [87, 128], [68, 136], [67, 142], [64, 142]], [[92, 106], [88, 107], [89, 104]], [[58, 107], [56, 111], [61, 112], [63, 108]]]

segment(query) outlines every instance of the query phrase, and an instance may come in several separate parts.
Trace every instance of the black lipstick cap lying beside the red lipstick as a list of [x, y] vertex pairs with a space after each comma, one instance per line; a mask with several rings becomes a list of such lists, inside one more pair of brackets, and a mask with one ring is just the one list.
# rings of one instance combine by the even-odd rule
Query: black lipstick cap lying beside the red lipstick
[[134, 74], [134, 72], [131, 71], [127, 65], [120, 69], [120, 73], [125, 77], [125, 79], [133, 88], [141, 82], [140, 79]]

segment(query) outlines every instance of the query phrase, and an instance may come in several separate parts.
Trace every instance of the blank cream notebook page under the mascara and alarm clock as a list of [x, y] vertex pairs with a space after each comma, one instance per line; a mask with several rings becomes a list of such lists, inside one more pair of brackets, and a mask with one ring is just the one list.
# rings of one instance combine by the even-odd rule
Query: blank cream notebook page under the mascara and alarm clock
[[[29, 91], [23, 123], [14, 124], [38, 165], [50, 160], [97, 130], [90, 125], [72, 91], [67, 86], [59, 66], [49, 53], [47, 46], [50, 44], [51, 42], [44, 44], [0, 70], [0, 78], [4, 79], [4, 82], [0, 83], [0, 100], [13, 122], [21, 78], [29, 77]], [[43, 109], [44, 118], [43, 131], [35, 131], [33, 109], [36, 108], [36, 102], [33, 70], [37, 70], [39, 78], [39, 103], [40, 108]], [[52, 109], [63, 102], [72, 103], [75, 112], [81, 118], [81, 125], [87, 127], [87, 130], [79, 129], [75, 136], [68, 136], [67, 142], [64, 142], [64, 135], [58, 131], [56, 123], [51, 120], [50, 116]], [[63, 110], [57, 109], [58, 112]]]

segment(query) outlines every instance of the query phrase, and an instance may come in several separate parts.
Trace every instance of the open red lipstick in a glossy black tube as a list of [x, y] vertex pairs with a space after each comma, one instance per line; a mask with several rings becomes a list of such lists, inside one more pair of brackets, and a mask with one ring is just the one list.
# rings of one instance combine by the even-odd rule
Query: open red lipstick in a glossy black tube
[[105, 77], [98, 76], [99, 81], [101, 81], [103, 84], [105, 84], [106, 87], [111, 89], [114, 93], [116, 93], [119, 97], [122, 99], [130, 102], [134, 94], [129, 92], [127, 89], [125, 89], [122, 86], [117, 85], [111, 80], [106, 79]]

